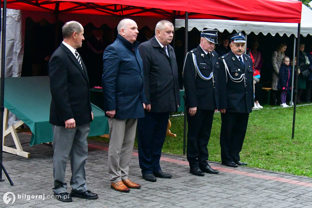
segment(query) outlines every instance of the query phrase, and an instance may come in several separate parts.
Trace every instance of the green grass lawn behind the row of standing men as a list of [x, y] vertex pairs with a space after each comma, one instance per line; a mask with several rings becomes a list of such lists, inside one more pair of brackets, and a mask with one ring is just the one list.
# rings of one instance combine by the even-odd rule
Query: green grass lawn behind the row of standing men
[[[247, 162], [248, 167], [312, 177], [312, 105], [297, 106], [294, 139], [291, 139], [293, 107], [266, 107], [249, 114], [241, 161]], [[171, 117], [170, 121], [170, 130], [177, 137], [167, 136], [162, 151], [182, 155], [184, 118]], [[208, 144], [210, 161], [221, 162], [220, 128], [221, 116], [215, 113]]]

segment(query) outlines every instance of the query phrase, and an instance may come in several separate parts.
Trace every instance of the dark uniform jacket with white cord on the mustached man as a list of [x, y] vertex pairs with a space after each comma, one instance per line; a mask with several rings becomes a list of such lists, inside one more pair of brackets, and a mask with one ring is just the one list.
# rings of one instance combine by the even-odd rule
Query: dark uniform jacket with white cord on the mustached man
[[[254, 106], [253, 93], [253, 70], [249, 56], [243, 54], [244, 66], [232, 52], [232, 50], [219, 58], [221, 73], [219, 78], [220, 101], [219, 109], [227, 109], [227, 112], [250, 113]], [[229, 73], [225, 69], [223, 60], [226, 62]], [[240, 78], [245, 73], [245, 80]], [[245, 84], [246, 83], [246, 84]]]

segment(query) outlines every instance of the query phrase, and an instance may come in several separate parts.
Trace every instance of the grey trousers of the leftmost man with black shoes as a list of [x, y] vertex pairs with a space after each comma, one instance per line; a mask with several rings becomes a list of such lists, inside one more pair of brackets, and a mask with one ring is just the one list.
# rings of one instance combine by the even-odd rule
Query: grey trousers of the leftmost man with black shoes
[[67, 192], [65, 170], [70, 156], [71, 187], [75, 192], [84, 192], [88, 188], [85, 180], [85, 162], [88, 158], [87, 136], [90, 123], [66, 129], [65, 126], [52, 125], [53, 130], [53, 177], [55, 194]]

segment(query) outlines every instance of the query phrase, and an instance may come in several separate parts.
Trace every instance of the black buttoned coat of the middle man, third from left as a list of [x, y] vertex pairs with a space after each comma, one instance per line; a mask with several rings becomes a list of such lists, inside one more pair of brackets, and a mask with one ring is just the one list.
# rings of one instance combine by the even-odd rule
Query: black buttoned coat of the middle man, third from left
[[151, 104], [151, 112], [173, 112], [180, 105], [176, 57], [172, 46], [167, 45], [167, 49], [169, 57], [155, 36], [139, 46], [143, 59], [146, 104]]

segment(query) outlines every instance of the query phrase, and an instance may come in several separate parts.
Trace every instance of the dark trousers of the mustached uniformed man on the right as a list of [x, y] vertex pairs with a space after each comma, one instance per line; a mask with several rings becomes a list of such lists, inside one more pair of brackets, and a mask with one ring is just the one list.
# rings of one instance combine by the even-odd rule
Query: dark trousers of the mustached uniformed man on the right
[[249, 113], [221, 113], [221, 160], [223, 163], [240, 161]]

